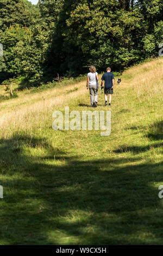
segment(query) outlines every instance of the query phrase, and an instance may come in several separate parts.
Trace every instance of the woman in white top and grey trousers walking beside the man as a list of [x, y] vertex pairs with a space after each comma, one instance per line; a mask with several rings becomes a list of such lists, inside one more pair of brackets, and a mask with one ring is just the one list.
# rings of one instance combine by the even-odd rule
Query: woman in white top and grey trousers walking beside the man
[[98, 89], [97, 89], [98, 80], [99, 78], [98, 78], [98, 73], [96, 72], [96, 68], [94, 66], [91, 66], [90, 73], [87, 74], [86, 88], [88, 90], [88, 87], [89, 87], [91, 106], [93, 107], [96, 107], [98, 102]]

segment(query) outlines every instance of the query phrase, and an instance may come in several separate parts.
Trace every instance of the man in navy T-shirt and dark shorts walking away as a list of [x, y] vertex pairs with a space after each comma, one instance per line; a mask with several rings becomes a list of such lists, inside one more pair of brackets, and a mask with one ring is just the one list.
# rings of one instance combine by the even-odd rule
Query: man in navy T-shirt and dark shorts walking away
[[111, 106], [111, 97], [114, 88], [114, 74], [111, 73], [111, 68], [106, 68], [106, 73], [102, 76], [101, 87], [105, 81], [104, 94], [105, 94], [105, 105], [108, 104], [108, 94], [109, 94], [109, 106]]

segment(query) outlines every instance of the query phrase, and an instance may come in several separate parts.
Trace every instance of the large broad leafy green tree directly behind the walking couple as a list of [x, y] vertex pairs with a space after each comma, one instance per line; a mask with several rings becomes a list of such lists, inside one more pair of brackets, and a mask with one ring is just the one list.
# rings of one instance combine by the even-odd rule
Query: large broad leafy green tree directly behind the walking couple
[[59, 70], [70, 75], [84, 72], [91, 63], [103, 70], [108, 64], [120, 70], [139, 59], [139, 40], [145, 33], [139, 11], [122, 11], [115, 0], [65, 1], [53, 52], [62, 53], [55, 52]]

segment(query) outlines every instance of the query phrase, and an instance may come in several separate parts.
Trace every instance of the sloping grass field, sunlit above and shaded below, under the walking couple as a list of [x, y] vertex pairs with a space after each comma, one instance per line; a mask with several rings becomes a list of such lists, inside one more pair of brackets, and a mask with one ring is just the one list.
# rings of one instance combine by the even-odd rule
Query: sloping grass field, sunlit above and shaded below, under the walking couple
[[94, 110], [86, 81], [0, 104], [1, 245], [163, 245], [162, 66], [115, 83], [107, 137], [52, 129], [54, 110]]

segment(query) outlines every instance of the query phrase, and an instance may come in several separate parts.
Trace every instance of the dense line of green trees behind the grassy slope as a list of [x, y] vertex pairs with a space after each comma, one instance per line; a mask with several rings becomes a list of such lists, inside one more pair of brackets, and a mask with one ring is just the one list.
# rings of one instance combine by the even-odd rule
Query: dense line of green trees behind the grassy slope
[[32, 85], [78, 76], [90, 65], [121, 71], [158, 56], [162, 0], [0, 0], [0, 82]]

